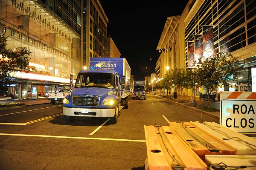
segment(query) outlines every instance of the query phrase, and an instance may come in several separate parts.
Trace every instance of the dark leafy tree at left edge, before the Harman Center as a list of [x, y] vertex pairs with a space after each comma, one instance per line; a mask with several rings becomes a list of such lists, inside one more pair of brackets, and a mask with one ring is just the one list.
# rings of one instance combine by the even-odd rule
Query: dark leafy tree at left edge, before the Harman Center
[[15, 51], [6, 48], [7, 37], [0, 35], [0, 90], [3, 90], [4, 86], [12, 83], [14, 78], [10, 77], [10, 73], [15, 70], [28, 71], [34, 69], [29, 66], [29, 55], [31, 52], [25, 47], [21, 47]]

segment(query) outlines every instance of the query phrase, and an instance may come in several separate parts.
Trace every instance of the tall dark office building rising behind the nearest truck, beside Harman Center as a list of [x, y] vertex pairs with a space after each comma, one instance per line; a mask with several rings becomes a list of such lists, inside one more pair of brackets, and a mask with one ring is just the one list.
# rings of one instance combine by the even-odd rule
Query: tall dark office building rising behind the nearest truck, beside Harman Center
[[89, 68], [89, 58], [110, 57], [108, 17], [99, 0], [83, 3], [83, 66]]

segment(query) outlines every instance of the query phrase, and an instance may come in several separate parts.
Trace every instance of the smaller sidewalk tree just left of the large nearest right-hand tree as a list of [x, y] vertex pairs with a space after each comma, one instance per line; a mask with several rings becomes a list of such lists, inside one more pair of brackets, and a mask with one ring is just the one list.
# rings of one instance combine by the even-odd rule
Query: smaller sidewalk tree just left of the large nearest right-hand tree
[[180, 96], [182, 96], [184, 88], [188, 89], [193, 86], [192, 71], [190, 69], [175, 69], [173, 78], [173, 84], [180, 88]]

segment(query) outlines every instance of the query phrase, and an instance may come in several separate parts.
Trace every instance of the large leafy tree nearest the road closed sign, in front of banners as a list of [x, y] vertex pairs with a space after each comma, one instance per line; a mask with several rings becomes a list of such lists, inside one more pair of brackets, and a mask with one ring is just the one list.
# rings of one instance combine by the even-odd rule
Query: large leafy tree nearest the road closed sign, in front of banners
[[218, 83], [225, 83], [232, 75], [239, 75], [244, 64], [239, 63], [239, 57], [228, 52], [219, 52], [204, 60], [193, 69], [195, 82], [207, 89], [208, 108], [209, 95], [218, 87]]

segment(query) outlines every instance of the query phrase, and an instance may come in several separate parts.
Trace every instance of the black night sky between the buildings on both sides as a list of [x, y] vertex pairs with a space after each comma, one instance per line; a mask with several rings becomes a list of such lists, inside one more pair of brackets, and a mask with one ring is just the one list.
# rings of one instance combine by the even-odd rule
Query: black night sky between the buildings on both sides
[[[180, 15], [188, 0], [100, 0], [109, 23], [108, 35], [131, 67], [134, 79], [155, 72], [156, 50], [166, 17]], [[152, 61], [150, 61], [152, 58]], [[147, 69], [146, 69], [147, 67]]]

